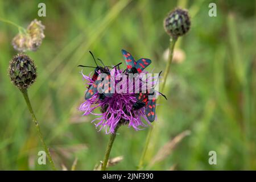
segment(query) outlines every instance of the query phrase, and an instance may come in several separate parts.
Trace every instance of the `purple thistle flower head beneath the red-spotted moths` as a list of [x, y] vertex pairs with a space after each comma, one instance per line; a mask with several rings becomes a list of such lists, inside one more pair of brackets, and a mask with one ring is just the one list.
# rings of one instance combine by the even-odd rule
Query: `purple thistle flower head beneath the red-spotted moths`
[[[115, 70], [114, 76], [122, 73], [121, 69], [113, 70]], [[82, 73], [82, 77], [88, 81], [88, 85], [93, 84], [90, 75], [86, 76]], [[115, 80], [115, 85], [118, 82], [119, 80]], [[133, 109], [134, 103], [137, 102], [135, 93], [114, 93], [112, 97], [105, 97], [104, 100], [101, 100], [99, 97], [100, 93], [94, 94], [80, 105], [79, 110], [84, 111], [83, 115], [97, 115], [98, 118], [92, 122], [98, 121], [95, 123], [96, 128], [99, 128], [99, 130], [105, 129], [106, 134], [114, 133], [117, 125], [128, 125], [135, 130], [141, 130], [142, 127], [150, 125], [144, 107], [138, 110]], [[100, 114], [93, 113], [96, 108], [100, 108]], [[146, 123], [142, 122], [142, 118], [146, 120]]]

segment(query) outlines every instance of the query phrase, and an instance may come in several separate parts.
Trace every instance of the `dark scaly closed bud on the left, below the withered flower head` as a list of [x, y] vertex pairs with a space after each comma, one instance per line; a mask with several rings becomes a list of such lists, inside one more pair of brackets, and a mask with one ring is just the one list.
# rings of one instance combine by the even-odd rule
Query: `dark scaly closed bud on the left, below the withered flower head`
[[36, 80], [34, 61], [24, 54], [14, 56], [10, 61], [9, 76], [20, 90], [27, 89]]

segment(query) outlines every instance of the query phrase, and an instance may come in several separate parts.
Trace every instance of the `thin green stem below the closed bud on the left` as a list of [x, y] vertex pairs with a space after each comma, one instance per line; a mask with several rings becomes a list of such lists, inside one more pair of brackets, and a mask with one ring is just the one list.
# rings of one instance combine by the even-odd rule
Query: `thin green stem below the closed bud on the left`
[[40, 130], [40, 126], [39, 126], [38, 120], [35, 117], [34, 111], [32, 109], [31, 103], [30, 103], [30, 99], [29, 99], [28, 94], [27, 94], [27, 89], [21, 90], [21, 92], [22, 92], [22, 94], [24, 96], [24, 99], [25, 99], [25, 101], [27, 103], [28, 110], [30, 110], [30, 114], [32, 116], [33, 122], [35, 123], [36, 130], [38, 131], [39, 138], [40, 138], [40, 140], [41, 140], [41, 142], [43, 144], [44, 151], [46, 152], [46, 155], [47, 155], [47, 157], [49, 159], [49, 162], [51, 164], [51, 168], [55, 171], [56, 170], [55, 165], [53, 163], [51, 154], [49, 153], [49, 149], [46, 146], [46, 142], [44, 142], [43, 135], [42, 135], [42, 132]]

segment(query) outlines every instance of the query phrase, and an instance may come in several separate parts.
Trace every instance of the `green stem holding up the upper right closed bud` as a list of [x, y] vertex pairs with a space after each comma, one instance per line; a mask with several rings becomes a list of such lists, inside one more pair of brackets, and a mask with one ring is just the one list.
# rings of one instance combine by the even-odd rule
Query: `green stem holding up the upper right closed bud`
[[[171, 63], [172, 63], [172, 57], [174, 56], [174, 46], [175, 46], [176, 42], [177, 42], [177, 38], [171, 38], [170, 39], [169, 57], [168, 57], [168, 62], [167, 62], [167, 65], [166, 65], [166, 69], [164, 71], [163, 84], [162, 84], [161, 92], [163, 92], [164, 86], [166, 86], [166, 80], [167, 80], [168, 73], [170, 71], [170, 67], [171, 67]], [[160, 100], [160, 98], [159, 98], [159, 100]], [[152, 135], [152, 130], [154, 129], [154, 124], [155, 123], [152, 123], [152, 126], [150, 127], [150, 129], [147, 133], [146, 143], [144, 145], [142, 156], [141, 156], [141, 159], [139, 160], [139, 165], [138, 165], [138, 168], [137, 168], [138, 170], [141, 170], [143, 168], [144, 158], [145, 158], [146, 153], [147, 153], [147, 148], [148, 148], [148, 144], [149, 144], [149, 141], [150, 141], [150, 138], [151, 138], [151, 135]]]

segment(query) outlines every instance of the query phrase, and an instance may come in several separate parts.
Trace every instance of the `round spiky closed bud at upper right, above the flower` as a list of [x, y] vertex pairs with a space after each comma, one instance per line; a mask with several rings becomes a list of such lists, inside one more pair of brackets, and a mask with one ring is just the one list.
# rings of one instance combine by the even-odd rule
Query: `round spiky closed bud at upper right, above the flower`
[[164, 29], [173, 38], [186, 34], [190, 26], [191, 22], [187, 10], [177, 8], [164, 19]]

